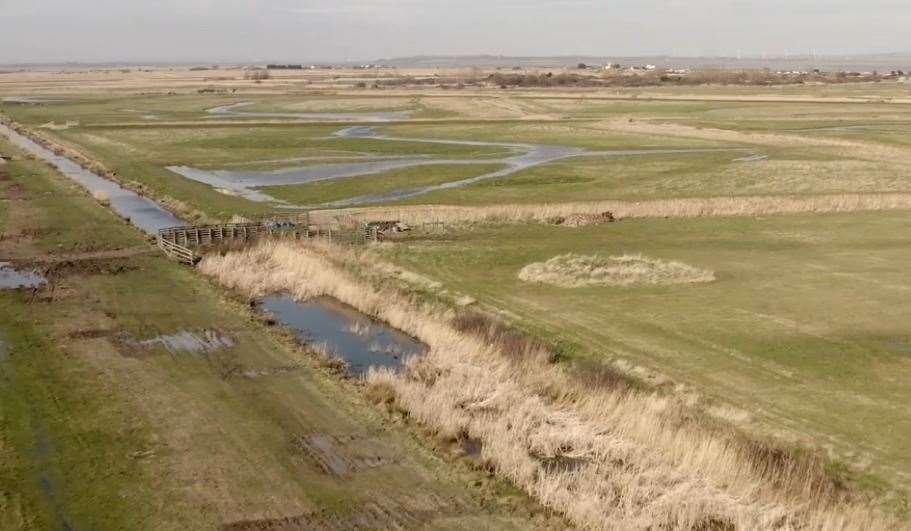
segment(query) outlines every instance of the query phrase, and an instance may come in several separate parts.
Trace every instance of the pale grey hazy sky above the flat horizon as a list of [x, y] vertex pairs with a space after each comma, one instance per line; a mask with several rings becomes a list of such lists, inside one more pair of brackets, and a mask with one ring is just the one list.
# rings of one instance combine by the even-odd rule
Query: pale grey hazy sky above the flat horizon
[[908, 52], [911, 0], [0, 0], [0, 63]]

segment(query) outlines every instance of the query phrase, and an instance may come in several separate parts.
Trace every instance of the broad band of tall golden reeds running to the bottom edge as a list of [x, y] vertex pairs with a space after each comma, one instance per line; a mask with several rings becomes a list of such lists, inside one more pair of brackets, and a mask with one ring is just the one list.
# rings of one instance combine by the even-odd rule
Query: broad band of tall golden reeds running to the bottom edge
[[[373, 371], [368, 393], [440, 437], [483, 444], [502, 477], [586, 529], [894, 529], [820, 459], [693, 420], [679, 399], [587, 379], [483, 319], [461, 321], [377, 289], [353, 251], [266, 242], [211, 255], [203, 273], [258, 296], [333, 296], [428, 346], [403, 374]], [[467, 322], [467, 324], [466, 324]]]

